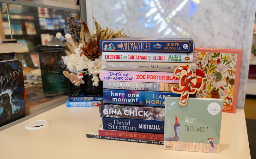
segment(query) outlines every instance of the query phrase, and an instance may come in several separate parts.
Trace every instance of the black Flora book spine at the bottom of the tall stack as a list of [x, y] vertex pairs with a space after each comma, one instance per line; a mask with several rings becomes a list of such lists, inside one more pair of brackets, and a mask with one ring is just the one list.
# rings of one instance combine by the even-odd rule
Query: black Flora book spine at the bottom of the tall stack
[[154, 140], [127, 139], [127, 138], [107, 137], [107, 136], [99, 136], [99, 135], [91, 135], [91, 134], [86, 134], [86, 137], [95, 138], [95, 139], [117, 140], [117, 141], [137, 142], [137, 143], [154, 144], [154, 145], [164, 145], [163, 141], [154, 141]]

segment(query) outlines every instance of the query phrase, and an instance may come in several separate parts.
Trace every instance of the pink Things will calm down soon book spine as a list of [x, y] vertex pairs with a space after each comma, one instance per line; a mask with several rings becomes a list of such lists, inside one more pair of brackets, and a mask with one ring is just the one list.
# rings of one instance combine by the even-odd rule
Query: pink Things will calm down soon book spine
[[102, 81], [179, 83], [172, 72], [107, 71], [105, 68], [100, 71], [100, 78]]

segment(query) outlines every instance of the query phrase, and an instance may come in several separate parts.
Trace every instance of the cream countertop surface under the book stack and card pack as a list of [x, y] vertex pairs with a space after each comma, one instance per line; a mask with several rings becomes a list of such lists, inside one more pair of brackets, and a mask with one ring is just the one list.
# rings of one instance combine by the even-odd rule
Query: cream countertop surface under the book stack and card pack
[[[35, 120], [51, 124], [38, 130], [25, 125]], [[0, 131], [0, 158], [251, 158], [244, 110], [222, 113], [218, 154], [163, 150], [162, 145], [87, 138], [101, 121], [99, 107], [66, 107], [63, 104]]]

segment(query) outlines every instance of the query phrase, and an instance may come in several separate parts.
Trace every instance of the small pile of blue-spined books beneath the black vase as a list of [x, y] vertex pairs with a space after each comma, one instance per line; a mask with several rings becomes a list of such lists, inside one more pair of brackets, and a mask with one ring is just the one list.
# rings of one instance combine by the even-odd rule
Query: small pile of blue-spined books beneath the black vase
[[67, 107], [97, 107], [102, 103], [102, 95], [87, 95], [81, 89], [71, 90]]

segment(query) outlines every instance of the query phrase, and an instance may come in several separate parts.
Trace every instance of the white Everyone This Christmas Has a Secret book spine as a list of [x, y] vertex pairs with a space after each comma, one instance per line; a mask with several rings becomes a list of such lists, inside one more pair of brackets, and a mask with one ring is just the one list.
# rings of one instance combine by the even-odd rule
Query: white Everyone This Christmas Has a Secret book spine
[[[188, 58], [189, 57], [189, 58]], [[167, 62], [192, 63], [193, 53], [155, 53], [155, 52], [102, 52], [102, 61], [135, 61], [135, 62]]]

